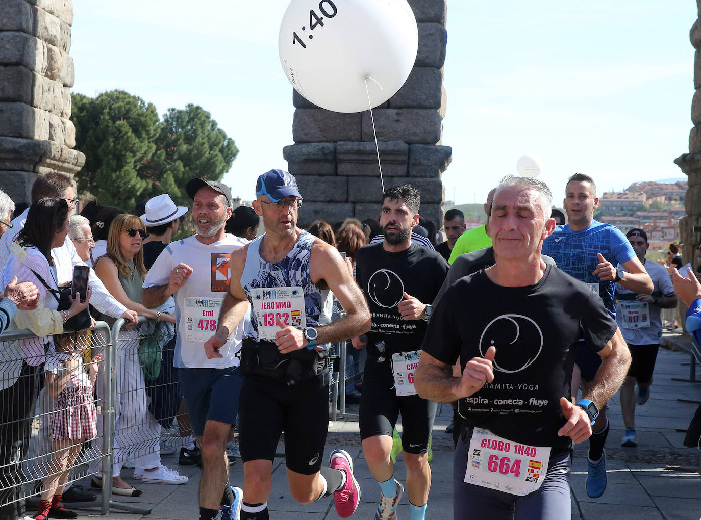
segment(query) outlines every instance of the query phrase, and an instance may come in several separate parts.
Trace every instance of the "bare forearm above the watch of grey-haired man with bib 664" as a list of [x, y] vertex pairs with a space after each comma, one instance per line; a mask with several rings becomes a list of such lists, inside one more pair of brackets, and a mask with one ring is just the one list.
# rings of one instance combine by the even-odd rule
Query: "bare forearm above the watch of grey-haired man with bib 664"
[[591, 399], [601, 409], [620, 388], [630, 366], [628, 345], [618, 327], [606, 346], [601, 349], [599, 355], [601, 356], [601, 367], [597, 371], [592, 388], [582, 397]]

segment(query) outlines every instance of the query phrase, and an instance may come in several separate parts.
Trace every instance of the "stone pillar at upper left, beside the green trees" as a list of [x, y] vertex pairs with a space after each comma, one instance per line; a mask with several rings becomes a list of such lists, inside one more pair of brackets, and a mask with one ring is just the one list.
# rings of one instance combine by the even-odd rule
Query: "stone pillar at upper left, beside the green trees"
[[74, 150], [69, 88], [72, 0], [1, 0], [0, 189], [29, 202], [36, 176], [75, 174], [85, 163]]

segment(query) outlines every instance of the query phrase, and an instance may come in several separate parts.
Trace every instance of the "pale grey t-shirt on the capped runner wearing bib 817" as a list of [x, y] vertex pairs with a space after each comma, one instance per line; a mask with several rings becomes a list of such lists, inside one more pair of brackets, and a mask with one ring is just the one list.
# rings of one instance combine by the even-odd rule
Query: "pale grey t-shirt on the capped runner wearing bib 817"
[[[674, 286], [669, 278], [667, 268], [648, 259], [645, 259], [644, 267], [653, 280], [653, 296], [659, 298], [660, 296], [674, 294]], [[625, 271], [623, 266], [618, 266], [618, 268]], [[616, 284], [615, 292], [623, 297], [635, 294], [620, 284]], [[660, 343], [662, 339], [662, 317], [660, 315], [662, 308], [653, 305], [653, 303], [648, 303], [648, 310], [650, 312], [650, 327], [641, 327], [639, 329], [626, 329], [623, 327], [623, 316], [616, 314], [616, 323], [618, 323], [626, 343], [631, 345], [654, 345], [655, 343]]]

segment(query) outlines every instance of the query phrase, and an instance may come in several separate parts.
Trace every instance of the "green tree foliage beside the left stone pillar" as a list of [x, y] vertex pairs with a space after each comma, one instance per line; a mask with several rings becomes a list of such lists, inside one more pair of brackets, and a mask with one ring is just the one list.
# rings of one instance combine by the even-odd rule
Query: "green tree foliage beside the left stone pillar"
[[72, 98], [76, 149], [86, 154], [76, 175], [79, 193], [102, 205], [132, 212], [137, 203], [168, 193], [177, 205], [190, 206], [187, 181], [221, 180], [238, 154], [202, 107], [169, 109], [161, 122], [153, 104], [123, 90]]

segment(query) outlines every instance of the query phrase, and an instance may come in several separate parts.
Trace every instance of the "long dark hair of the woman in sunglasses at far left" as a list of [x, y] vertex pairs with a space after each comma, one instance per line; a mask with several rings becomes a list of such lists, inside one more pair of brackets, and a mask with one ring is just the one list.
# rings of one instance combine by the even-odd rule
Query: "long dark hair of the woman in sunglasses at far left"
[[27, 223], [18, 234], [22, 247], [33, 245], [46, 259], [51, 258], [54, 233], [63, 231], [68, 219], [68, 203], [62, 198], [40, 198], [29, 206]]

